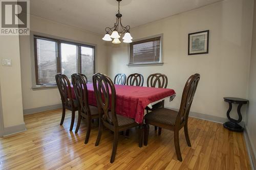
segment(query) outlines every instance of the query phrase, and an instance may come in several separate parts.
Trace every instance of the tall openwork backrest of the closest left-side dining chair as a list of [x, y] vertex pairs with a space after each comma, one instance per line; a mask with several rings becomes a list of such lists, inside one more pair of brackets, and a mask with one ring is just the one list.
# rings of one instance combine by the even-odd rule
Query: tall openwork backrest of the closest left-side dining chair
[[[93, 75], [93, 88], [100, 112], [99, 116], [105, 122], [118, 126], [116, 116], [116, 89], [112, 80], [103, 74], [96, 73]], [[102, 112], [104, 116], [102, 116]], [[109, 114], [110, 112], [110, 114]]]

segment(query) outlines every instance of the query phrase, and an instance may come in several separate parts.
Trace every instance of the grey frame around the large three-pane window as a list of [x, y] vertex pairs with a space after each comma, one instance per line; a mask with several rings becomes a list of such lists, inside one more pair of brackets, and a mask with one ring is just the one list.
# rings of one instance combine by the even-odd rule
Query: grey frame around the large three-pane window
[[68, 44], [74, 44], [74, 45], [79, 45], [77, 48], [77, 55], [78, 55], [78, 72], [81, 72], [81, 57], [80, 55], [80, 49], [81, 46], [85, 47], [94, 47], [94, 73], [96, 72], [96, 62], [97, 62], [97, 44], [92, 44], [88, 42], [81, 42], [81, 41], [76, 41], [72, 39], [67, 39], [67, 38], [62, 38], [62, 37], [57, 37], [53, 35], [48, 35], [48, 34], [43, 34], [43, 33], [38, 33], [38, 32], [32, 32], [30, 31], [30, 51], [31, 51], [31, 73], [32, 73], [32, 90], [41, 90], [41, 89], [52, 89], [52, 88], [57, 88], [57, 85], [37, 85], [37, 80], [36, 78], [38, 76], [38, 73], [36, 73], [36, 41], [34, 39], [36, 37], [41, 38], [41, 39], [46, 39], [46, 40], [52, 40], [57, 43], [57, 72], [61, 72], [61, 54], [60, 54], [60, 44], [61, 43], [68, 43]]

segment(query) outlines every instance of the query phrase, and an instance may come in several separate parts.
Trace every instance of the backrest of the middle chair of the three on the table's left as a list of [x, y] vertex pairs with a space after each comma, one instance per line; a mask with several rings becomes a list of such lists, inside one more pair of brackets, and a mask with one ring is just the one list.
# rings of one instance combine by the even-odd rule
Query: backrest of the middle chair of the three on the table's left
[[83, 74], [73, 74], [71, 76], [76, 100], [79, 110], [85, 114], [90, 114], [88, 103], [87, 77]]

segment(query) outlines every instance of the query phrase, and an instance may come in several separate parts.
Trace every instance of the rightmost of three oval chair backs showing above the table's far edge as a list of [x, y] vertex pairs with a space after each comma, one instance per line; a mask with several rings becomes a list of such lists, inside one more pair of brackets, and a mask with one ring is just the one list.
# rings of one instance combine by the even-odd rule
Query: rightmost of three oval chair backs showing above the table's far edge
[[161, 73], [156, 73], [148, 76], [146, 81], [147, 87], [166, 88], [167, 84], [168, 84], [167, 76]]

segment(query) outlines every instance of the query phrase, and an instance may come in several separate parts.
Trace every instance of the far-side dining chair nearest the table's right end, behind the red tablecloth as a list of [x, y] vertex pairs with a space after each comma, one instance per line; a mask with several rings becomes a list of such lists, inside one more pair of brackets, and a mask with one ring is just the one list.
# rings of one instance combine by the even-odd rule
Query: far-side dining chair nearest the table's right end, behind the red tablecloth
[[[168, 85], [168, 78], [166, 75], [161, 73], [152, 74], [147, 77], [146, 85], [147, 87], [166, 88]], [[164, 100], [154, 104], [152, 108], [146, 107], [146, 113], [148, 113], [148, 111], [153, 111], [161, 107], [164, 108]], [[155, 126], [155, 130], [157, 130], [157, 126]], [[159, 135], [161, 134], [161, 131], [162, 129], [158, 128]]]

